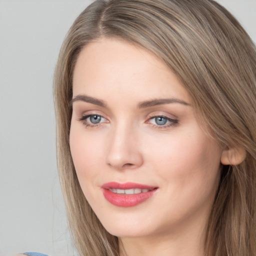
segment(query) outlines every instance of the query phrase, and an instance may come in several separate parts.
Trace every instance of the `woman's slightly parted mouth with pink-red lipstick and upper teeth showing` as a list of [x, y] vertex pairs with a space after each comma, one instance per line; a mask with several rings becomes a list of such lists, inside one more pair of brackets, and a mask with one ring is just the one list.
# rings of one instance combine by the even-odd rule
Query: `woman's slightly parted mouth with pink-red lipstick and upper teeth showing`
[[103, 195], [110, 203], [120, 207], [135, 206], [150, 198], [157, 187], [133, 182], [108, 182], [101, 186]]

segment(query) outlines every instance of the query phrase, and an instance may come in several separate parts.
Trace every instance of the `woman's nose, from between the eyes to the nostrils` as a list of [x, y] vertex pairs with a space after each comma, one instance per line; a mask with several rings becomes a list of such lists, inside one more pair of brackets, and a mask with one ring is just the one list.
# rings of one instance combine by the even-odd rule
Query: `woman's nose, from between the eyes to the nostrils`
[[106, 163], [117, 170], [134, 169], [143, 163], [136, 127], [124, 126], [113, 129], [108, 140]]

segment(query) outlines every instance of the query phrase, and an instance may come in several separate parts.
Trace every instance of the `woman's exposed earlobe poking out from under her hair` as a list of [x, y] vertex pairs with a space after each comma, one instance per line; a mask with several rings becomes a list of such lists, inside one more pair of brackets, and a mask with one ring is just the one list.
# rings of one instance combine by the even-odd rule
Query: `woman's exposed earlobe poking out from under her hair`
[[231, 147], [223, 150], [220, 162], [223, 165], [237, 165], [246, 157], [246, 151], [242, 147]]

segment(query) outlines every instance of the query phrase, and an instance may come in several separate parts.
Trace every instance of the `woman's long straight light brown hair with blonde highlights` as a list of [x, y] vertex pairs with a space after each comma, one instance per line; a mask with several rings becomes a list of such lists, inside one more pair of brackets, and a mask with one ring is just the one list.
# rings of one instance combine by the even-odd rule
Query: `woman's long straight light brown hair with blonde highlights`
[[198, 121], [222, 146], [246, 150], [224, 165], [208, 218], [207, 256], [256, 255], [256, 50], [237, 20], [213, 0], [96, 0], [74, 21], [54, 76], [57, 162], [68, 222], [83, 256], [117, 256], [117, 237], [87, 203], [69, 149], [72, 74], [84, 45], [114, 37], [153, 52], [189, 92]]

